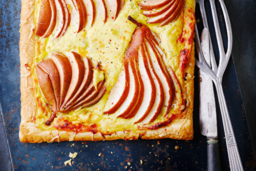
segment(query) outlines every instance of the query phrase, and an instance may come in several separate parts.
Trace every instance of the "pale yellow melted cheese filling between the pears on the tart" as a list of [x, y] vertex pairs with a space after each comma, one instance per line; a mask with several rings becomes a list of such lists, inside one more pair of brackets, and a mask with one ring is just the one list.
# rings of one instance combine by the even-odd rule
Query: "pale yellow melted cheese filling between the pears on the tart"
[[[138, 2], [138, 1], [137, 1]], [[35, 5], [35, 23], [38, 19], [40, 2], [37, 1]], [[134, 124], [135, 119], [121, 119], [116, 118], [117, 114], [104, 115], [103, 110], [108, 99], [108, 95], [116, 83], [118, 74], [122, 68], [122, 60], [125, 55], [126, 49], [129, 47], [132, 34], [136, 29], [136, 25], [127, 20], [127, 16], [131, 15], [139, 23], [146, 24], [152, 31], [158, 34], [161, 39], [161, 49], [165, 52], [166, 58], [164, 62], [167, 69], [172, 68], [183, 85], [183, 77], [179, 74], [179, 56], [182, 49], [188, 47], [185, 41], [178, 41], [182, 35], [186, 39], [191, 34], [191, 29], [184, 23], [184, 18], [194, 15], [188, 10], [194, 11], [193, 0], [187, 0], [185, 3], [185, 13], [180, 13], [175, 22], [170, 23], [163, 27], [158, 27], [157, 24], [146, 24], [146, 17], [141, 14], [137, 3], [126, 1], [124, 8], [120, 11], [115, 21], [108, 19], [105, 23], [102, 19], [95, 20], [94, 25], [86, 26], [81, 32], [76, 33], [75, 27], [71, 25], [66, 34], [54, 38], [56, 30], [48, 38], [37, 37], [36, 56], [34, 58], [34, 65], [32, 66], [32, 75], [35, 83], [35, 100], [37, 106], [40, 106], [36, 111], [36, 120], [38, 127], [42, 130], [55, 129], [54, 126], [59, 124], [59, 120], [67, 120], [74, 125], [87, 125], [91, 126], [96, 123], [97, 130], [104, 133], [113, 133], [116, 131], [136, 130], [137, 126], [141, 123]], [[100, 17], [100, 16], [98, 16]], [[195, 19], [195, 18], [194, 18]], [[188, 20], [188, 23], [193, 21]], [[56, 24], [58, 26], [58, 24]], [[185, 27], [184, 27], [185, 26]], [[185, 34], [186, 33], [186, 34]], [[193, 33], [192, 33], [193, 34]], [[45, 121], [51, 116], [52, 111], [49, 104], [46, 102], [44, 95], [40, 92], [35, 73], [35, 64], [40, 60], [48, 57], [54, 51], [69, 52], [75, 51], [83, 57], [89, 57], [93, 61], [100, 62], [101, 69], [105, 72], [105, 79], [107, 82], [107, 91], [102, 99], [95, 105], [88, 108], [82, 108], [73, 111], [69, 114], [57, 113], [56, 118], [51, 126], [45, 126]], [[193, 71], [187, 71], [193, 72]], [[95, 83], [102, 80], [102, 72], [94, 72]], [[183, 86], [182, 86], [183, 87]], [[170, 113], [174, 113], [180, 108], [182, 103], [181, 94], [176, 93], [176, 101], [173, 104]], [[154, 123], [163, 121], [162, 115], [159, 115]]]

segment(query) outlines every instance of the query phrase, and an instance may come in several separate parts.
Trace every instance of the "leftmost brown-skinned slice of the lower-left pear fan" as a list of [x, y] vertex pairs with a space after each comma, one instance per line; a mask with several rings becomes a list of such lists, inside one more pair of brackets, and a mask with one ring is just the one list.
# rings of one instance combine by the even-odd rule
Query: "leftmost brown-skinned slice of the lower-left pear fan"
[[42, 94], [44, 94], [47, 102], [51, 105], [53, 111], [57, 110], [56, 99], [53, 92], [52, 82], [48, 73], [36, 65], [36, 74]]

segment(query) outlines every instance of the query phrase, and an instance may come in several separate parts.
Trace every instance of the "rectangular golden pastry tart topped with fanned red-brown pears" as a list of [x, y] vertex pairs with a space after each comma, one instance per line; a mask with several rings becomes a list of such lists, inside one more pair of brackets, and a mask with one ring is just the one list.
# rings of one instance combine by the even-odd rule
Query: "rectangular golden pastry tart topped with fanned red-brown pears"
[[26, 0], [21, 142], [193, 139], [195, 0]]

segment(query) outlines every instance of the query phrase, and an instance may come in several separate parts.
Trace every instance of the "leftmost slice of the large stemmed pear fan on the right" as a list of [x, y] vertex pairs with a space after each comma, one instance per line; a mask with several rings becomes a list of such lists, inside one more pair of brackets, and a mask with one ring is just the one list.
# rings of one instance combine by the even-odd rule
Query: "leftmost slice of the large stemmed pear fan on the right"
[[118, 75], [115, 86], [111, 89], [108, 101], [106, 103], [106, 106], [110, 107], [104, 112], [104, 114], [115, 113], [120, 108], [121, 104], [129, 93], [130, 77], [127, 75], [128, 72], [125, 72], [125, 70], [128, 70], [127, 65], [124, 65], [124, 67]]

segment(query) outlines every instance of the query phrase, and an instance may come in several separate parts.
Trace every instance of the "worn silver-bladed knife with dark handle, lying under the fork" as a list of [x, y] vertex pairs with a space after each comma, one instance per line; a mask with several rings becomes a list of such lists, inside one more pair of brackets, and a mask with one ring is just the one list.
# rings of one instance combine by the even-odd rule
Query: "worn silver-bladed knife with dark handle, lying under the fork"
[[[203, 56], [210, 66], [209, 33], [204, 28], [201, 33]], [[211, 78], [199, 69], [199, 113], [200, 132], [207, 137], [207, 170], [221, 170], [218, 145], [218, 128], [214, 87]]]

